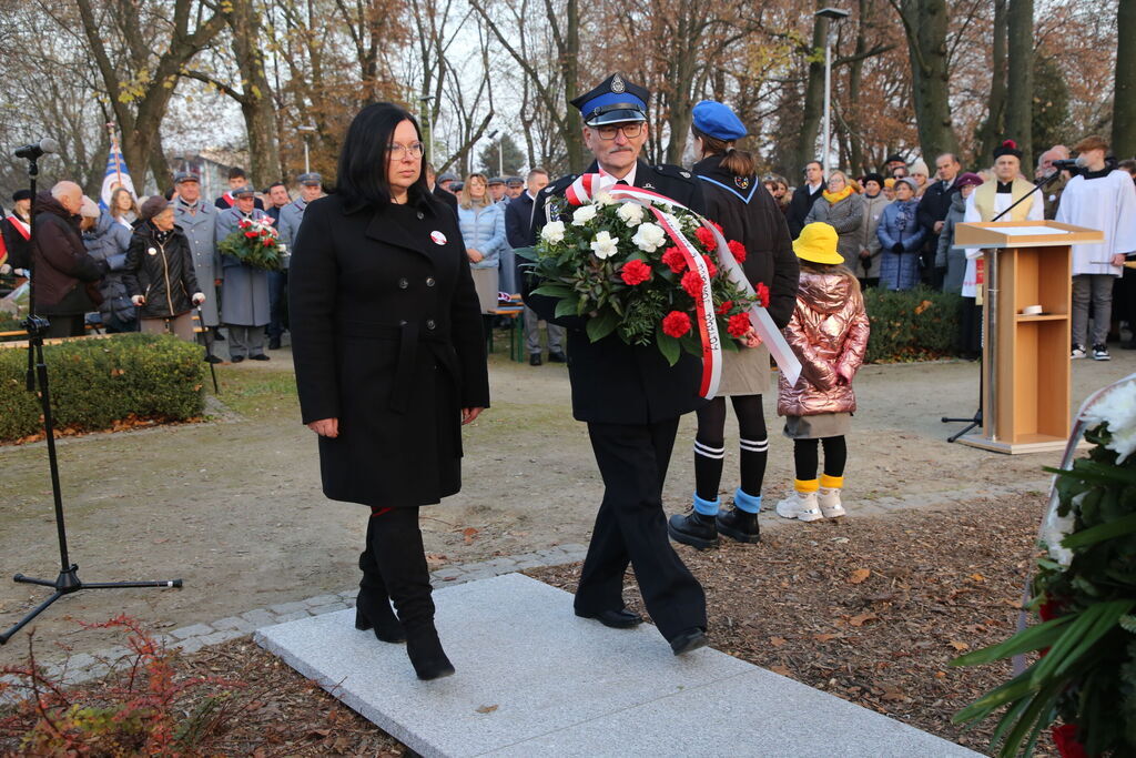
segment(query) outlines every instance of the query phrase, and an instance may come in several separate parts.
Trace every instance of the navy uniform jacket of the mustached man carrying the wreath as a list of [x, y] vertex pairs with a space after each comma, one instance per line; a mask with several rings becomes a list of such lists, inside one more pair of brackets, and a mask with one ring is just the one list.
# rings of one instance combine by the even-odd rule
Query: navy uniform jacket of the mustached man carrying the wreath
[[[590, 173], [599, 169], [593, 163]], [[565, 176], [541, 190], [533, 219], [533, 238], [546, 222], [544, 207], [552, 197], [561, 197], [576, 176]], [[687, 208], [703, 213], [702, 188], [687, 170], [678, 166], [651, 166], [642, 160], [635, 169], [635, 186], [666, 195]], [[540, 286], [524, 277], [525, 303], [541, 318], [566, 327], [568, 335], [568, 374], [571, 378], [573, 416], [577, 420], [600, 424], [651, 424], [675, 418], [702, 407], [699, 397], [702, 361], [683, 352], [674, 366], [659, 349], [651, 345], [626, 344], [615, 333], [591, 342], [585, 332], [586, 318], [554, 318], [557, 300], [532, 294]]]

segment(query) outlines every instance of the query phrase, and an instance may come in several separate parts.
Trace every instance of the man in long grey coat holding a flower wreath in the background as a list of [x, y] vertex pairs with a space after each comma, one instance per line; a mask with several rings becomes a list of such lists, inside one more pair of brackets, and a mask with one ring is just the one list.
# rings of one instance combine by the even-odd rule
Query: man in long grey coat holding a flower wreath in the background
[[[268, 214], [256, 207], [251, 186], [233, 190], [234, 205], [217, 216], [216, 241], [237, 230], [237, 224], [249, 218], [260, 220]], [[268, 360], [265, 355], [265, 326], [268, 324], [268, 272], [242, 264], [233, 256], [222, 256], [220, 311], [228, 330], [228, 355], [234, 364], [245, 358]]]

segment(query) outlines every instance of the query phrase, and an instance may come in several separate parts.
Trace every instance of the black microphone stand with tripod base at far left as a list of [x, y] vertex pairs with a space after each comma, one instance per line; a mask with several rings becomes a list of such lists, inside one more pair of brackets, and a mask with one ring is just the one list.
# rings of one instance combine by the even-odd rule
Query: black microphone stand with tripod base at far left
[[[47, 142], [47, 141], [44, 141]], [[41, 153], [42, 155], [42, 153]], [[36, 164], [39, 155], [18, 156], [28, 159], [27, 175], [31, 180], [32, 202], [35, 202], [35, 180], [40, 169]], [[48, 319], [35, 314], [35, 211], [32, 211], [32, 231], [28, 238], [32, 245], [32, 256], [28, 263], [28, 316], [23, 322], [27, 331], [27, 391], [35, 392], [39, 389], [40, 405], [43, 408], [43, 432], [48, 443], [48, 465], [51, 470], [51, 493], [55, 498], [56, 509], [56, 532], [59, 539], [59, 576], [55, 581], [37, 580], [23, 574], [12, 577], [15, 582], [24, 584], [39, 584], [55, 590], [51, 595], [32, 609], [11, 628], [0, 633], [0, 644], [5, 644], [16, 632], [22, 630], [28, 622], [42, 614], [56, 600], [66, 594], [78, 592], [80, 590], [115, 590], [119, 588], [135, 586], [182, 586], [182, 580], [167, 580], [159, 582], [83, 582], [78, 577], [78, 565], [70, 563], [67, 555], [67, 528], [64, 524], [64, 500], [59, 485], [59, 459], [56, 456], [55, 423], [51, 418], [51, 392], [48, 385], [48, 366], [43, 360], [43, 338], [50, 326]]]

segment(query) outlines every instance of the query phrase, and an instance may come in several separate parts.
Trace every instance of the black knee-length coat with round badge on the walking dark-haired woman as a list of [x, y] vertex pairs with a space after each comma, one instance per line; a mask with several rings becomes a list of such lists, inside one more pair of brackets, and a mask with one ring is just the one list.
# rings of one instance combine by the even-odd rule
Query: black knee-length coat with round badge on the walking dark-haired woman
[[[414, 190], [411, 190], [414, 192]], [[292, 253], [292, 353], [324, 494], [438, 502], [461, 488], [461, 408], [487, 407], [481, 306], [458, 218], [433, 199], [312, 201]]]

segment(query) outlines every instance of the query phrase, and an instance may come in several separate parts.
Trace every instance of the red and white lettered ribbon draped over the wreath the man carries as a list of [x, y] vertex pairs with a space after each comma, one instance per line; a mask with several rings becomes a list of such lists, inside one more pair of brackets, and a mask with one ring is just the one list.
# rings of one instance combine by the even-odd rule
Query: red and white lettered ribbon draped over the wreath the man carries
[[[696, 270], [702, 280], [702, 289], [694, 298], [695, 314], [699, 322], [699, 334], [702, 340], [702, 382], [699, 394], [703, 398], [713, 398], [718, 393], [718, 382], [721, 378], [721, 336], [718, 334], [718, 322], [713, 310], [713, 295], [710, 288], [710, 272], [707, 269], [702, 255], [686, 239], [682, 232], [678, 219], [662, 209], [655, 208], [652, 203], [670, 206], [694, 213], [686, 206], [661, 195], [658, 192], [644, 190], [637, 186], [617, 185], [616, 178], [605, 174], [583, 174], [565, 192], [565, 197], [573, 206], [582, 206], [600, 193], [608, 193], [612, 200], [629, 200], [645, 207], [655, 218], [655, 223], [662, 227], [670, 238], [670, 241], [683, 253], [686, 265], [691, 270]], [[713, 225], [699, 214], [694, 214], [702, 222], [702, 226], [710, 230], [718, 243], [718, 263], [726, 272], [729, 281], [753, 299], [754, 305], [750, 309], [750, 323], [761, 341], [769, 348], [769, 355], [777, 361], [790, 385], [795, 385], [801, 375], [801, 361], [797, 360], [780, 330], [774, 324], [774, 319], [766, 309], [758, 302], [750, 280], [746, 278], [742, 266], [734, 259], [726, 238], [713, 227]]]

